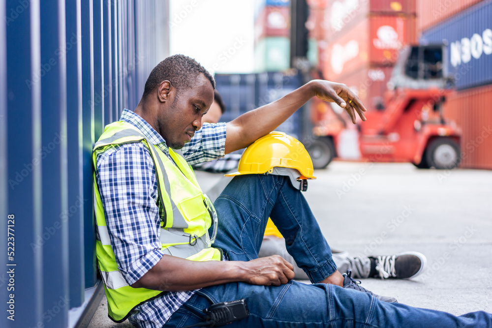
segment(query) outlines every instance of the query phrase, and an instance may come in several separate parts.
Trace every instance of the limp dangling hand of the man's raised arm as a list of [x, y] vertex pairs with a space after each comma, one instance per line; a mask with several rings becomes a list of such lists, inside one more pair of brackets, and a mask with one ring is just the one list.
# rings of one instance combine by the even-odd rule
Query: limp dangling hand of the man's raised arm
[[338, 106], [345, 109], [352, 119], [352, 123], [355, 124], [356, 122], [355, 112], [359, 114], [363, 121], [366, 120], [364, 116], [366, 107], [364, 107], [359, 97], [346, 85], [325, 80], [312, 80], [309, 83], [312, 84], [314, 95], [319, 99], [336, 102]]

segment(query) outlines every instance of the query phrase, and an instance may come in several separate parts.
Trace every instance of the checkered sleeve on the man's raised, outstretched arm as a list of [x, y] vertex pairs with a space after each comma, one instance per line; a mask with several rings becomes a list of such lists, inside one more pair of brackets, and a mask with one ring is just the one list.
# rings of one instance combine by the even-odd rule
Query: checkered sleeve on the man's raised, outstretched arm
[[225, 154], [225, 123], [204, 123], [191, 141], [184, 144], [183, 156], [188, 164], [208, 162]]

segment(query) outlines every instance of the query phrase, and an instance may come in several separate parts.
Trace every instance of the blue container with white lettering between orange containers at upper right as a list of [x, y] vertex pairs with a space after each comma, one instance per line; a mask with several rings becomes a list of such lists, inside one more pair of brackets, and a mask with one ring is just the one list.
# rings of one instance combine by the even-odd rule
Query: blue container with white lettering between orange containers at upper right
[[458, 90], [492, 83], [492, 0], [424, 31], [420, 41], [447, 44], [448, 69]]

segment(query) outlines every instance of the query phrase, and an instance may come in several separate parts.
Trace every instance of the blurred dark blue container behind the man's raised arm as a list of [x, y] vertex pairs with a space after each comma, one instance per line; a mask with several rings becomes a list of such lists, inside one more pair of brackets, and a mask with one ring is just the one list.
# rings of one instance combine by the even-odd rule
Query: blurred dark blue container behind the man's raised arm
[[[252, 109], [280, 99], [287, 93], [301, 87], [302, 76], [281, 72], [215, 74], [215, 83], [227, 109], [220, 121], [228, 122]], [[301, 137], [301, 121], [302, 110], [298, 110], [276, 130], [299, 139]]]

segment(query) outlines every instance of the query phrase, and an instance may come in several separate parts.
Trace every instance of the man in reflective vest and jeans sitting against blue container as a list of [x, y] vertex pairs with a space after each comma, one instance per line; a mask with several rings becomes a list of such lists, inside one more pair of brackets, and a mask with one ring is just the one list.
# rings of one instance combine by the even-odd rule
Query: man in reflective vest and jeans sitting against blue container
[[[213, 303], [244, 298], [249, 315], [230, 327], [492, 326], [486, 312], [457, 317], [384, 302], [342, 276], [287, 177], [235, 177], [212, 205], [188, 163], [247, 147], [313, 96], [337, 102], [354, 123], [356, 113], [365, 120], [350, 89], [315, 80], [202, 128], [214, 88], [195, 60], [171, 56], [149, 75], [135, 112], [123, 110], [94, 145], [96, 255], [110, 318], [137, 327], [198, 326]], [[258, 258], [269, 216], [314, 284], [293, 281], [292, 265], [280, 256]]]

